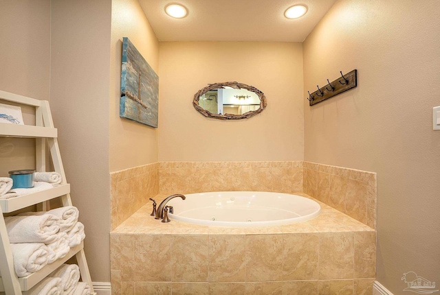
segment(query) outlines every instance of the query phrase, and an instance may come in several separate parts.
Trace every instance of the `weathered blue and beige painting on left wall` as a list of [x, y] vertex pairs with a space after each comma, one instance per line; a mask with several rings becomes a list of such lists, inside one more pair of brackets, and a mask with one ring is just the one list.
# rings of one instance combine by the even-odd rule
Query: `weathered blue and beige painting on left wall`
[[130, 42], [122, 39], [120, 117], [157, 128], [159, 77]]

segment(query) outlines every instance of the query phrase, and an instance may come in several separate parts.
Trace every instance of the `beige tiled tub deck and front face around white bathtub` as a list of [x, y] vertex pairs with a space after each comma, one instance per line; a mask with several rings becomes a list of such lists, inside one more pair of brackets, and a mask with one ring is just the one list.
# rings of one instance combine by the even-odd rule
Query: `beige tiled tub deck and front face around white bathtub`
[[150, 202], [111, 233], [112, 294], [372, 294], [375, 231], [320, 205], [308, 222], [221, 228], [164, 224]]

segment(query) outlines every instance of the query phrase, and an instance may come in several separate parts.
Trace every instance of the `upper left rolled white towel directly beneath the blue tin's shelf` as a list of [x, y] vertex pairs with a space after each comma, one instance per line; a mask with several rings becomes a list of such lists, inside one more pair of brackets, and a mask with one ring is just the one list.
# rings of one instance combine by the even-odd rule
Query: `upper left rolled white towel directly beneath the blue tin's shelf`
[[58, 238], [59, 221], [52, 214], [5, 217], [10, 243], [51, 244]]

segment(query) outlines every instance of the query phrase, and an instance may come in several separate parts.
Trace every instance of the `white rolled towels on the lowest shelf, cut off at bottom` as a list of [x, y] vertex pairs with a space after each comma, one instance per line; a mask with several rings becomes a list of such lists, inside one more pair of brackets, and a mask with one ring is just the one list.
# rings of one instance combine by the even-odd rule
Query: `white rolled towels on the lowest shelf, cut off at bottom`
[[26, 295], [89, 295], [90, 286], [79, 280], [80, 270], [78, 266], [76, 264], [63, 264], [26, 292]]

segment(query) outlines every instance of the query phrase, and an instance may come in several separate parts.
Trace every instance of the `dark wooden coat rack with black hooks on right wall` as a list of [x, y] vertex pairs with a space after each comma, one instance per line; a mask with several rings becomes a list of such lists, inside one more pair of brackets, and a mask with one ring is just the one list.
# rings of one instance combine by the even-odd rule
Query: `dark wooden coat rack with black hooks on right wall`
[[309, 97], [306, 97], [306, 99], [309, 101], [310, 106], [358, 86], [358, 70], [353, 70], [345, 75], [342, 74], [342, 71], [340, 71], [340, 73], [342, 77], [333, 82], [330, 82], [329, 79], [327, 79], [328, 84], [326, 86], [319, 88], [319, 86], [316, 85], [318, 90], [314, 93], [310, 94], [310, 92], [307, 91]]

